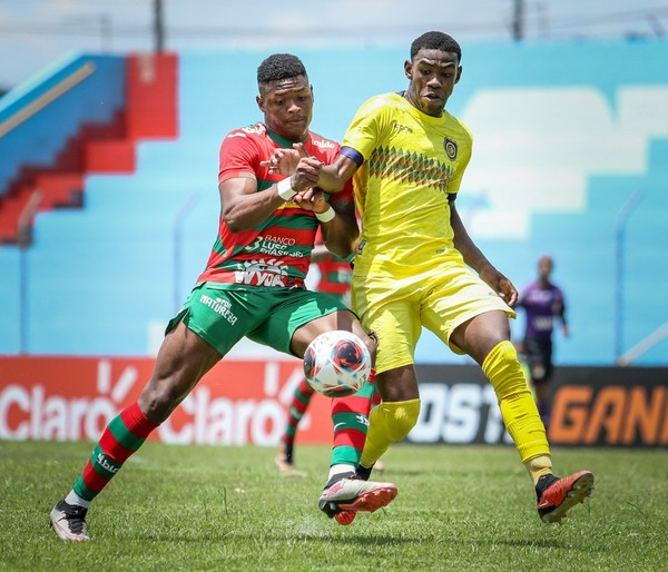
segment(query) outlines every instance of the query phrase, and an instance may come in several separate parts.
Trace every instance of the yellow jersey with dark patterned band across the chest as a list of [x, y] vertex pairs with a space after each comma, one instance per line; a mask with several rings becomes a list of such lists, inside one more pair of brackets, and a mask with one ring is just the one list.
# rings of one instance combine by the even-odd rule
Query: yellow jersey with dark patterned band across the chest
[[428, 116], [400, 93], [360, 107], [342, 145], [364, 161], [354, 179], [362, 216], [355, 275], [409, 277], [454, 248], [448, 195], [460, 188], [472, 141], [448, 111]]

